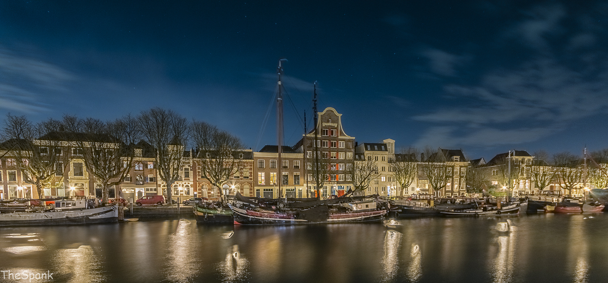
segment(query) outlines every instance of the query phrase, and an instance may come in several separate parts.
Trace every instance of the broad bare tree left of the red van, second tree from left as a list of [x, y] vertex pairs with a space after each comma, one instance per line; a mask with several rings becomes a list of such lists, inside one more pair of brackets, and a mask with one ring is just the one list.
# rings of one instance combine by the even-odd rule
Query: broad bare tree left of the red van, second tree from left
[[64, 115], [63, 127], [65, 131], [56, 132], [58, 138], [77, 149], [85, 168], [100, 185], [102, 202], [108, 203], [109, 188], [120, 185], [133, 168], [132, 145], [139, 140], [134, 117], [102, 121]]

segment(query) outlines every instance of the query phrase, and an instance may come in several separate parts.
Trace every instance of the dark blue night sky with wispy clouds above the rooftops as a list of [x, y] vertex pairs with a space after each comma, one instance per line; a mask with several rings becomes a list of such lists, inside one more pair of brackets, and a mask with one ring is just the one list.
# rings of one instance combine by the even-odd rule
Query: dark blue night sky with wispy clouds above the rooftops
[[[0, 114], [173, 109], [276, 144], [334, 107], [357, 142], [579, 154], [608, 148], [606, 1], [0, 2]], [[268, 118], [266, 118], [268, 117]]]

